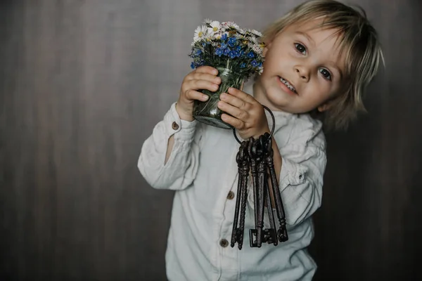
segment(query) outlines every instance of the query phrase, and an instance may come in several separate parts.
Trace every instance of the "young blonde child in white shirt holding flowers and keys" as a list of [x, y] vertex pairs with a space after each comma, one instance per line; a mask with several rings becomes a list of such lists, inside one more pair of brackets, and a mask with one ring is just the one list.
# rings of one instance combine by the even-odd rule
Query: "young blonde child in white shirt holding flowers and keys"
[[193, 100], [206, 98], [198, 90], [215, 91], [220, 83], [215, 68], [199, 67], [184, 78], [179, 100], [143, 143], [138, 163], [153, 188], [176, 190], [166, 252], [169, 280], [312, 280], [315, 273], [307, 246], [326, 167], [322, 126], [346, 127], [364, 109], [362, 92], [383, 54], [366, 15], [337, 1], [301, 4], [263, 38], [264, 71], [253, 89], [229, 89], [219, 107], [243, 139], [269, 132], [271, 118], [262, 105], [274, 113], [274, 162], [289, 239], [276, 247], [249, 247], [248, 230], [255, 228], [250, 196], [243, 249], [228, 247], [239, 144], [231, 130], [193, 119]]

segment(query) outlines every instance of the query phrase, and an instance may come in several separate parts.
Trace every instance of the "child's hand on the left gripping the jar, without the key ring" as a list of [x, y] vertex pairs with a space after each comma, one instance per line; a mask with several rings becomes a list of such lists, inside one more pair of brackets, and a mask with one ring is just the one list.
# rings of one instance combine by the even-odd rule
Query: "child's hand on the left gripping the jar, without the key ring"
[[186, 75], [182, 84], [176, 110], [180, 119], [193, 121], [193, 100], [205, 101], [208, 96], [198, 90], [217, 91], [222, 80], [217, 77], [218, 70], [210, 66], [201, 66]]

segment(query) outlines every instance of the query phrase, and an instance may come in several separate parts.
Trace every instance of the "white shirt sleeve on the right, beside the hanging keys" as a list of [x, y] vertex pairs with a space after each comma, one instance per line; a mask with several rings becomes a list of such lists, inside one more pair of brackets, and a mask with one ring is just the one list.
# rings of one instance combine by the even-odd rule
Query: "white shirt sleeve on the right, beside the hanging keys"
[[[288, 228], [312, 216], [321, 207], [322, 186], [326, 168], [325, 138], [305, 130], [280, 147], [281, 171], [279, 190]], [[254, 208], [252, 192], [248, 202]], [[274, 213], [276, 214], [276, 213]]]

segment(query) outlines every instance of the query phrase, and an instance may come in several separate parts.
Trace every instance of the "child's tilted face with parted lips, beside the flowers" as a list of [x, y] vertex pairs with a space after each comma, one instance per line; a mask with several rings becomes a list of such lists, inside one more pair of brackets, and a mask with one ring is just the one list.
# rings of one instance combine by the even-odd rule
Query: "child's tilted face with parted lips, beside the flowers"
[[290, 25], [267, 42], [264, 71], [254, 91], [260, 103], [291, 113], [331, 106], [341, 91], [345, 60], [335, 30], [315, 27], [320, 22]]

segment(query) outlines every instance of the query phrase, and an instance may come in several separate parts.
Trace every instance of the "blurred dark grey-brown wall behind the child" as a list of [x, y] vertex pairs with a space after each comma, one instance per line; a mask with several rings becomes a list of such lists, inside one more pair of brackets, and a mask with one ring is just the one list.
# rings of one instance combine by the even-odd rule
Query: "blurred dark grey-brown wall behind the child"
[[[165, 280], [172, 192], [136, 168], [177, 99], [204, 18], [260, 29], [299, 1], [3, 0], [1, 280]], [[421, 237], [422, 5], [350, 0], [386, 67], [369, 114], [330, 133], [316, 280], [416, 280]]]

